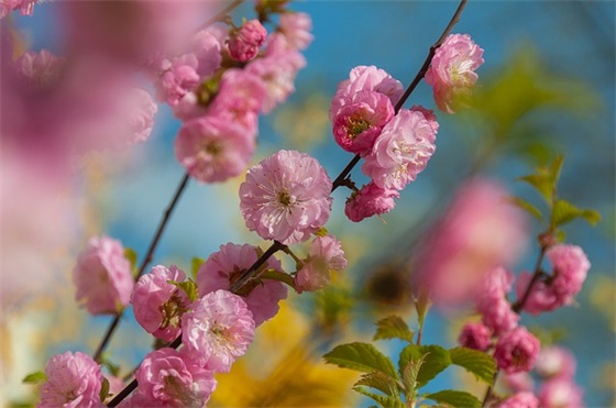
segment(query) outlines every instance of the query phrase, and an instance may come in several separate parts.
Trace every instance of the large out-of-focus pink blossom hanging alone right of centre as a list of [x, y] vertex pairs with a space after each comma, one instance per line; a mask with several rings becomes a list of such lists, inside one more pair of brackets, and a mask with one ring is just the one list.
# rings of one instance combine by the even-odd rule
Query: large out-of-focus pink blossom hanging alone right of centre
[[513, 265], [524, 251], [527, 220], [506, 202], [508, 196], [496, 181], [471, 179], [427, 232], [414, 260], [414, 280], [428, 287], [439, 306], [474, 300], [487, 274]]

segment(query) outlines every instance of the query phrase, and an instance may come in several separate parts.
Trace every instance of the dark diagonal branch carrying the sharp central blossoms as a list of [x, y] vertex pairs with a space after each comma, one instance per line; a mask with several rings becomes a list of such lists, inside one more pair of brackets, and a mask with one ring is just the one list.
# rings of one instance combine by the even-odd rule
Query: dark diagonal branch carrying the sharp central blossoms
[[[237, 1], [238, 2], [238, 1]], [[241, 2], [241, 1], [240, 1]], [[413, 93], [413, 91], [415, 90], [415, 88], [417, 87], [417, 85], [421, 81], [421, 79], [424, 78], [424, 76], [426, 75], [426, 71], [428, 70], [428, 68], [430, 67], [430, 62], [432, 60], [432, 57], [435, 56], [435, 52], [437, 51], [437, 48], [442, 44], [442, 42], [444, 41], [444, 38], [447, 38], [447, 36], [451, 33], [451, 30], [453, 30], [453, 26], [455, 25], [455, 23], [458, 23], [458, 21], [460, 21], [460, 15], [462, 14], [462, 11], [464, 10], [464, 7], [466, 5], [468, 0], [462, 0], [460, 2], [460, 5], [458, 5], [458, 9], [455, 10], [455, 13], [453, 14], [453, 16], [451, 18], [449, 24], [447, 25], [447, 27], [444, 29], [444, 31], [442, 32], [441, 36], [439, 37], [439, 40], [430, 47], [430, 51], [428, 53], [428, 56], [426, 57], [426, 60], [424, 62], [424, 65], [421, 65], [421, 68], [419, 68], [419, 71], [416, 74], [415, 78], [413, 79], [413, 81], [410, 82], [410, 85], [408, 86], [408, 88], [406, 89], [406, 91], [403, 93], [403, 96], [400, 97], [400, 99], [398, 100], [398, 102], [396, 103], [395, 107], [395, 113], [398, 113], [399, 110], [402, 109], [403, 104], [406, 102], [406, 100], [408, 99], [408, 97], [410, 96], [410, 93]], [[234, 4], [234, 3], [233, 3]], [[336, 177], [336, 179], [332, 183], [332, 188], [331, 191], [333, 192], [338, 187], [344, 185], [345, 178], [349, 176], [349, 174], [351, 173], [351, 170], [353, 169], [353, 167], [355, 167], [355, 165], [360, 162], [361, 157], [360, 155], [355, 155], [350, 162], [349, 164], [342, 169], [342, 172], [340, 172], [340, 174], [338, 175], [338, 177]], [[272, 243], [272, 245], [270, 245], [270, 247], [263, 253], [263, 255], [261, 255], [258, 257], [258, 260], [256, 260], [256, 262], [249, 268], [246, 269], [239, 278], [238, 280], [235, 280], [231, 287], [229, 288], [229, 290], [231, 293], [238, 293], [244, 285], [246, 285], [250, 280], [252, 280], [256, 274], [257, 271], [260, 271], [260, 267], [267, 262], [267, 260], [270, 258], [270, 256], [274, 255], [276, 252], [278, 251], [284, 251], [284, 249], [286, 247], [286, 245], [284, 245], [283, 243], [278, 242], [278, 241], [274, 241]], [[169, 345], [169, 348], [173, 349], [177, 349], [179, 345], [182, 344], [182, 335], [179, 335], [177, 339], [175, 339], [175, 341]], [[127, 396], [129, 396], [138, 386], [138, 382], [136, 379], [133, 379], [120, 394], [118, 394], [110, 403], [109, 403], [109, 407], [116, 407], [118, 404], [120, 404]]]

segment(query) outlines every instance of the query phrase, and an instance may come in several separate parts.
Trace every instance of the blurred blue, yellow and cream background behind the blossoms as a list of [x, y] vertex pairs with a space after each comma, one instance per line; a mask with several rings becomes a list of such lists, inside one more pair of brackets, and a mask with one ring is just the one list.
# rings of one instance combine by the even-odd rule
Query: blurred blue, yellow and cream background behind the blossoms
[[[25, 47], [57, 51], [62, 24], [55, 5], [37, 4], [33, 16], [13, 13]], [[253, 15], [250, 5], [239, 8], [234, 19]], [[352, 158], [333, 142], [327, 117], [338, 82], [354, 66], [376, 65], [406, 86], [457, 5], [294, 2], [294, 10], [311, 15], [315, 41], [305, 54], [308, 65], [299, 73], [297, 92], [261, 122], [254, 163], [279, 148], [300, 150], [319, 158], [336, 177]], [[457, 188], [486, 177], [539, 206], [535, 191], [516, 178], [549, 163], [556, 153], [565, 156], [561, 197], [596, 209], [602, 221], [594, 228], [575, 221], [564, 229], [566, 242], [582, 246], [592, 263], [576, 304], [544, 316], [525, 315], [522, 323], [547, 342], [572, 350], [578, 359], [575, 381], [584, 388], [587, 406], [615, 406], [615, 13], [613, 1], [471, 1], [453, 32], [469, 33], [484, 48], [473, 108], [454, 115], [437, 112], [437, 153], [382, 219], [348, 221], [348, 191], [336, 191], [327, 227], [342, 241], [350, 266], [328, 289], [290, 294], [280, 315], [258, 329], [246, 357], [220, 376], [210, 406], [367, 406], [350, 390], [358, 374], [324, 365], [320, 356], [341, 342], [370, 341], [374, 322], [387, 315], [400, 315], [415, 327], [408, 265]], [[411, 104], [436, 109], [425, 82], [407, 102]], [[91, 318], [73, 301], [75, 256], [88, 236], [101, 233], [144, 254], [184, 175], [173, 154], [179, 124], [160, 104], [146, 144], [88, 154], [62, 191], [38, 189], [38, 197], [31, 191], [34, 185], [22, 185], [8, 196], [3, 184], [0, 389], [6, 406], [35, 400], [34, 388], [21, 379], [42, 370], [53, 354], [91, 353], [98, 344], [110, 318]], [[359, 168], [353, 179], [362, 183]], [[154, 264], [189, 271], [194, 256], [206, 258], [227, 242], [264, 245], [243, 227], [237, 192], [242, 180], [191, 180]], [[542, 225], [529, 218], [524, 250], [512, 260], [516, 274], [532, 269], [541, 231]], [[488, 232], [501, 233], [496, 228]], [[432, 309], [424, 342], [453, 346], [464, 312]], [[151, 345], [129, 310], [109, 357], [127, 373]], [[392, 354], [399, 349], [395, 342], [380, 346]], [[431, 386], [484, 393], [455, 371], [444, 372]]]

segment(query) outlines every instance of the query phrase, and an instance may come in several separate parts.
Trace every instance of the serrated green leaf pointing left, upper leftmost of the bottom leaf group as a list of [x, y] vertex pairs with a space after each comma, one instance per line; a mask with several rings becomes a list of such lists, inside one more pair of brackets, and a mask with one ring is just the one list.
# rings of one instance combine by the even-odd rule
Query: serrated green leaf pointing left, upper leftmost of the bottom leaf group
[[376, 348], [369, 343], [349, 343], [336, 346], [332, 351], [323, 355], [329, 364], [339, 367], [350, 368], [363, 373], [381, 371], [393, 378], [397, 377], [394, 363]]

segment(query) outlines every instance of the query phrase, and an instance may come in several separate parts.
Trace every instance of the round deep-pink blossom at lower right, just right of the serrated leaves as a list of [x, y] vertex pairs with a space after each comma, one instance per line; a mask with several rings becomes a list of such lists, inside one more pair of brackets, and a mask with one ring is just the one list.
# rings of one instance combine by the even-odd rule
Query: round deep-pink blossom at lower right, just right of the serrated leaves
[[530, 371], [538, 354], [539, 340], [521, 326], [498, 339], [494, 350], [498, 368], [507, 374]]

